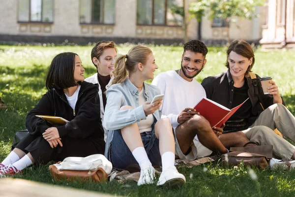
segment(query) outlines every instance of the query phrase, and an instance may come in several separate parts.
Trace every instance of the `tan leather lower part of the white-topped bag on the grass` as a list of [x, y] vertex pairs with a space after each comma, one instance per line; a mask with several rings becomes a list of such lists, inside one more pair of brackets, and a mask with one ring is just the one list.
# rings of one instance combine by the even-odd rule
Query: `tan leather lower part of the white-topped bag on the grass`
[[101, 168], [96, 170], [58, 170], [55, 165], [49, 165], [49, 170], [51, 176], [54, 180], [82, 180], [88, 181], [92, 180], [95, 182], [106, 182], [108, 179], [108, 174]]

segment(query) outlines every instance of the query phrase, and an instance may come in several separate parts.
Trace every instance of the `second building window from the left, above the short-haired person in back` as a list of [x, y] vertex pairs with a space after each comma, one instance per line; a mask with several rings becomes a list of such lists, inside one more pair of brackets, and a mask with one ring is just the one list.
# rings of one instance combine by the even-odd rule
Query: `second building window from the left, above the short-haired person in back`
[[115, 24], [115, 0], [80, 0], [80, 23]]

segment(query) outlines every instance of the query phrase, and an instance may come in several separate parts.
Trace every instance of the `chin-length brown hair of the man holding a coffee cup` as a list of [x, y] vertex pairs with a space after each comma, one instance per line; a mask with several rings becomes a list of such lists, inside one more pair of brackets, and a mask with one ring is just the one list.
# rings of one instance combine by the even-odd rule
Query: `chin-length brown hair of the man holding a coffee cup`
[[245, 76], [248, 76], [249, 72], [252, 72], [251, 69], [253, 68], [255, 63], [254, 51], [252, 49], [252, 46], [244, 40], [234, 40], [229, 46], [228, 50], [226, 51], [227, 57], [225, 66], [227, 68], [230, 68], [229, 57], [232, 51], [245, 58], [253, 58], [252, 64], [248, 67], [247, 71], [245, 72]]

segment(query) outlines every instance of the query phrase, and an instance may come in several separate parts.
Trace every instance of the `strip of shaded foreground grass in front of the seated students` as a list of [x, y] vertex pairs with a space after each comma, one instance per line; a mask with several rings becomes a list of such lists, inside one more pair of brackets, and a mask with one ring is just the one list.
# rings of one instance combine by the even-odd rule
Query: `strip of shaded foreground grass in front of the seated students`
[[295, 170], [289, 170], [286, 173], [284, 170], [271, 171], [256, 168], [254, 172], [258, 178], [253, 180], [244, 166], [238, 166], [235, 169], [224, 168], [213, 162], [191, 168], [180, 167], [179, 172], [186, 177], [186, 184], [179, 189], [157, 187], [155, 184], [157, 179], [154, 184], [143, 186], [137, 186], [137, 183], [133, 181], [121, 184], [116, 180], [107, 183], [64, 180], [53, 182], [48, 164], [26, 168], [19, 178], [130, 197], [289, 197], [295, 192]]

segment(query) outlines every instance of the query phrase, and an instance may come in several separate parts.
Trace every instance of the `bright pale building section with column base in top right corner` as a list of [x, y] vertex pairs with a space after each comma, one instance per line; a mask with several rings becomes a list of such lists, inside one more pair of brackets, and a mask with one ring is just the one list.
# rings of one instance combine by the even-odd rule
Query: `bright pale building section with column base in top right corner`
[[295, 0], [267, 0], [264, 48], [295, 48]]

